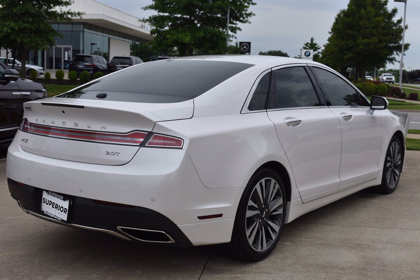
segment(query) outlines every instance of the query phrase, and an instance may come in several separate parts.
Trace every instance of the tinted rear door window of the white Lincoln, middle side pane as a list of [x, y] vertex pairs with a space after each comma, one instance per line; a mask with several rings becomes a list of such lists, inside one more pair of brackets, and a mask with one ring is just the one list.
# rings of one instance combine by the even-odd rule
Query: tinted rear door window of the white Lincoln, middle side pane
[[303, 67], [272, 72], [267, 109], [313, 106], [320, 106], [320, 102]]

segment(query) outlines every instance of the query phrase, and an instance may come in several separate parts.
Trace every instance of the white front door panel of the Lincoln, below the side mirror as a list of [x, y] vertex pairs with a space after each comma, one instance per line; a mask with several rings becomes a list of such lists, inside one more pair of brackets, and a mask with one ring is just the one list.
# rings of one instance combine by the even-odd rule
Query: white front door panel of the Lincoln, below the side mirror
[[341, 124], [341, 185], [378, 175], [381, 152], [381, 117], [369, 108], [330, 107]]

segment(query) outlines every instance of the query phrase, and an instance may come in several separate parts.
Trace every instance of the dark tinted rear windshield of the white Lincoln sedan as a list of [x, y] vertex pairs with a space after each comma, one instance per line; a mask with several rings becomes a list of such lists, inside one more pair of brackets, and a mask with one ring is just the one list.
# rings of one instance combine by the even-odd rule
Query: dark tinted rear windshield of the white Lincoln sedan
[[143, 103], [175, 103], [193, 99], [253, 66], [211, 60], [159, 60], [117, 71], [60, 97]]

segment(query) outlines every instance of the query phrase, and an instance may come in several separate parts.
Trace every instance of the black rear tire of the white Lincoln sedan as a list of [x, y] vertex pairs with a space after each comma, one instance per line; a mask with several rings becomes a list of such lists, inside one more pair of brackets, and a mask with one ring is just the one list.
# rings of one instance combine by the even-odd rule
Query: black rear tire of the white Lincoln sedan
[[[270, 212], [268, 212], [268, 210], [266, 209], [261, 210], [260, 212], [258, 212], [258, 214], [255, 214], [254, 216], [251, 217], [246, 217], [247, 216], [247, 210], [249, 209], [249, 200], [251, 195], [253, 194], [254, 189], [256, 188], [257, 184], [259, 184], [259, 182], [263, 179], [266, 178], [271, 178], [274, 179], [277, 183], [278, 183], [278, 189], [275, 189], [273, 192], [271, 192], [271, 194], [269, 194], [268, 200], [270, 200], [270, 197], [274, 197], [274, 194], [278, 194], [278, 191], [281, 192], [281, 200], [282, 200], [282, 205], [281, 207], [275, 207], [277, 210], [274, 210], [274, 212], [278, 212], [278, 209], [281, 208], [282, 210], [282, 214], [281, 214], [281, 218], [278, 217], [279, 214], [276, 215], [271, 215], [271, 210]], [[268, 180], [268, 179], [267, 179]], [[261, 185], [262, 186], [262, 185]], [[268, 186], [268, 185], [266, 185]], [[265, 188], [267, 190], [267, 188]], [[274, 188], [273, 188], [274, 189]], [[265, 193], [268, 194], [270, 193], [270, 190]], [[256, 194], [255, 194], [256, 195]], [[277, 195], [276, 195], [277, 197]], [[280, 198], [277, 197], [277, 201], [280, 202]], [[265, 197], [264, 199], [265, 200]], [[275, 202], [275, 200], [272, 200], [271, 202]], [[277, 204], [277, 203], [276, 203]], [[273, 204], [271, 204], [273, 205]], [[262, 209], [264, 208], [264, 206], [266, 208], [269, 208], [270, 203], [267, 203], [267, 205], [262, 205]], [[249, 179], [249, 182], [247, 184], [247, 186], [244, 189], [244, 192], [242, 194], [241, 200], [239, 201], [239, 207], [238, 210], [236, 211], [236, 217], [235, 217], [235, 222], [234, 222], [234, 228], [232, 231], [232, 238], [231, 238], [231, 242], [230, 243], [226, 243], [226, 244], [222, 244], [224, 251], [231, 255], [232, 257], [238, 258], [238, 259], [243, 259], [246, 261], [259, 261], [261, 259], [264, 259], [265, 257], [268, 256], [268, 254], [271, 253], [271, 251], [273, 251], [273, 249], [276, 247], [276, 244], [278, 243], [278, 239], [280, 238], [281, 235], [281, 231], [283, 229], [284, 226], [284, 220], [286, 217], [286, 192], [284, 189], [284, 184], [283, 181], [281, 180], [280, 176], [278, 176], [278, 174], [276, 172], [274, 172], [271, 169], [268, 168], [262, 168], [257, 170], [254, 175], [252, 175], [251, 179]], [[258, 211], [258, 210], [257, 210]], [[260, 213], [262, 212], [263, 216], [260, 216]], [[267, 215], [265, 216], [264, 212], [267, 213]], [[261, 222], [261, 218], [266, 217], [264, 220]], [[263, 228], [265, 225], [265, 228], [270, 227], [267, 220], [269, 218], [274, 218], [276, 219], [276, 223], [278, 223], [277, 226], [279, 226], [278, 232], [275, 236], [274, 239], [266, 239], [270, 241], [270, 245], [268, 245], [268, 248], [263, 250], [263, 251], [257, 251], [255, 249], [255, 247], [253, 247], [252, 244], [249, 243], [248, 241], [248, 236], [246, 233], [246, 229], [247, 229], [247, 221], [248, 223], [255, 223], [256, 228]], [[254, 219], [253, 222], [249, 222], [249, 219]], [[258, 223], [259, 221], [259, 223]], [[265, 223], [265, 224], [264, 224]], [[249, 227], [251, 228], [251, 227]], [[254, 231], [254, 230], [252, 230]], [[259, 231], [261, 233], [265, 233], [265, 231]], [[270, 231], [271, 232], [271, 231]], [[254, 234], [255, 236], [255, 234]], [[266, 236], [269, 237], [270, 235], [268, 235], [268, 232], [266, 233]], [[256, 239], [255, 239], [256, 240]], [[259, 240], [261, 243], [261, 239]], [[263, 241], [264, 242], [264, 241]], [[266, 241], [264, 242], [266, 244], [268, 244]], [[256, 243], [257, 244], [257, 243]], [[261, 246], [262, 248], [262, 246]]]

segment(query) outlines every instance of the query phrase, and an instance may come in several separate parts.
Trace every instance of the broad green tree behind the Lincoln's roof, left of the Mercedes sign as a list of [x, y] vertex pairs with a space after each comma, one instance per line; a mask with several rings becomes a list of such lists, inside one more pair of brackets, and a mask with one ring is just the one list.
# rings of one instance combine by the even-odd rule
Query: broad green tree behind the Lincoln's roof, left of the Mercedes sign
[[155, 10], [157, 15], [141, 21], [152, 26], [150, 34], [155, 35], [152, 48], [178, 49], [180, 56], [193, 55], [195, 50], [226, 53], [226, 21], [229, 15], [229, 37], [241, 31], [239, 23], [250, 23], [255, 14], [249, 7], [253, 0], [153, 0], [143, 7]]

